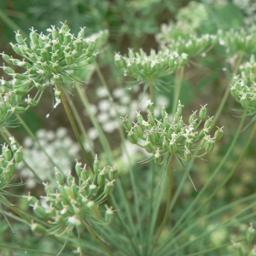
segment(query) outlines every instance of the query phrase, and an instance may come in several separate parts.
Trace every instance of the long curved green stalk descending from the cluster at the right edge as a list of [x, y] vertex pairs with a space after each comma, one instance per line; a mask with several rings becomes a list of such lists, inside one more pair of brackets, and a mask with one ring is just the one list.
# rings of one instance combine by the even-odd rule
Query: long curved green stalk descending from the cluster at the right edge
[[[180, 230], [183, 225], [186, 223], [187, 221], [187, 215], [188, 214], [191, 214], [191, 210], [192, 210], [192, 207], [195, 206], [195, 203], [197, 201], [200, 200], [201, 198], [201, 195], [204, 194], [204, 192], [206, 191], [206, 189], [208, 188], [209, 184], [212, 182], [213, 178], [216, 177], [216, 175], [218, 174], [218, 172], [221, 170], [222, 166], [224, 165], [224, 163], [226, 162], [226, 160], [228, 159], [228, 157], [230, 156], [230, 153], [233, 151], [233, 148], [235, 147], [235, 144], [236, 144], [236, 141], [237, 141], [237, 138], [239, 137], [239, 134], [241, 132], [241, 128], [242, 128], [242, 125], [244, 124], [244, 120], [245, 120], [245, 113], [243, 114], [242, 118], [241, 118], [241, 122], [240, 122], [240, 125], [236, 131], [236, 135], [235, 137], [233, 138], [233, 141], [232, 143], [230, 144], [230, 148], [227, 150], [226, 154], [224, 154], [224, 158], [221, 160], [221, 162], [218, 164], [218, 166], [216, 167], [215, 171], [212, 173], [212, 176], [208, 178], [207, 180], [207, 183], [204, 185], [204, 187], [201, 189], [201, 191], [199, 192], [199, 194], [195, 197], [195, 199], [191, 202], [191, 204], [189, 205], [189, 207], [183, 212], [183, 215], [178, 219], [177, 223], [175, 224], [175, 226], [173, 227], [172, 229], [172, 234], [170, 234], [170, 236], [167, 236], [166, 237], [166, 241], [163, 242], [160, 250], [162, 250], [162, 248], [166, 247], [166, 245], [168, 244], [168, 242], [170, 241], [170, 239], [172, 238], [172, 236], [174, 236], [174, 232], [176, 230]], [[190, 215], [189, 215], [190, 216]], [[183, 220], [186, 218], [186, 221], [182, 224]]]

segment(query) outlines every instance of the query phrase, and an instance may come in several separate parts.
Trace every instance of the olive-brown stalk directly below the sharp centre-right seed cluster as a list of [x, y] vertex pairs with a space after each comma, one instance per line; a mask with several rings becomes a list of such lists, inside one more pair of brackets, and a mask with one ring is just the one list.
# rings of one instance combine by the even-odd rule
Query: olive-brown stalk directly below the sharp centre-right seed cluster
[[165, 217], [163, 218], [162, 223], [160, 224], [160, 229], [158, 230], [157, 236], [154, 240], [154, 246], [156, 246], [160, 234], [163, 230], [163, 228], [165, 227], [165, 224], [167, 223], [167, 220], [169, 218], [169, 213], [170, 213], [170, 206], [171, 206], [171, 202], [172, 202], [172, 172], [173, 172], [173, 155], [171, 154], [170, 156], [170, 160], [168, 163], [168, 194], [167, 194], [167, 205], [166, 205], [166, 213], [165, 213]]

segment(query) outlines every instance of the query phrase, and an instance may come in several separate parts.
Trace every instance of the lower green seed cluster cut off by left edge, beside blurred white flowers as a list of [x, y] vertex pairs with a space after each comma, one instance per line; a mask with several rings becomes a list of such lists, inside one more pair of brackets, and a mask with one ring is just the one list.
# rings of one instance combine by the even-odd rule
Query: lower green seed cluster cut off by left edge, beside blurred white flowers
[[10, 137], [10, 148], [5, 143], [2, 146], [0, 155], [0, 190], [5, 189], [11, 178], [14, 176], [16, 168], [23, 159], [23, 152], [18, 148], [14, 137]]

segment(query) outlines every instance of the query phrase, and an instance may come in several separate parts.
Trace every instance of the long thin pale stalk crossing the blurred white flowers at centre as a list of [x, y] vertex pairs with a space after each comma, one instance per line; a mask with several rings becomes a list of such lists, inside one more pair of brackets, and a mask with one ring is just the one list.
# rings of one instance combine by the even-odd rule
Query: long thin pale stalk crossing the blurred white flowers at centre
[[[104, 77], [102, 75], [102, 71], [101, 71], [101, 69], [99, 68], [99, 66], [97, 65], [96, 62], [95, 62], [95, 67], [96, 67], [96, 73], [99, 76], [99, 79], [101, 80], [102, 84], [104, 85], [104, 87], [106, 88], [106, 90], [108, 92], [109, 102], [111, 103], [111, 106], [113, 107], [113, 109], [115, 111], [116, 119], [119, 120], [119, 124], [120, 124], [119, 113], [118, 113], [118, 110], [117, 110], [117, 108], [115, 108], [115, 105], [113, 103], [113, 98], [112, 98], [112, 96], [109, 92], [108, 84], [107, 84], [106, 80], [104, 79]], [[125, 135], [124, 135], [123, 129], [121, 129], [121, 125], [119, 125], [119, 135], [122, 139], [122, 142], [125, 142]], [[125, 148], [125, 154], [126, 154], [126, 156], [128, 158], [128, 161], [130, 163], [129, 166], [131, 166], [130, 155], [128, 153], [127, 148], [125, 147], [125, 143], [123, 143], [123, 145], [124, 145], [124, 148]], [[140, 214], [140, 211], [139, 211], [139, 202], [138, 202], [138, 198], [137, 198], [137, 186], [136, 186], [136, 183], [135, 183], [135, 178], [134, 178], [134, 174], [133, 174], [132, 170], [130, 170], [129, 175], [130, 175], [130, 178], [131, 178], [131, 188], [132, 188], [134, 201], [135, 201], [135, 211], [136, 211], [136, 214], [137, 214], [137, 222], [139, 223], [140, 241], [143, 242], [143, 229], [142, 229], [141, 214]]]

